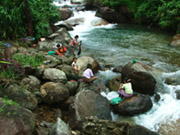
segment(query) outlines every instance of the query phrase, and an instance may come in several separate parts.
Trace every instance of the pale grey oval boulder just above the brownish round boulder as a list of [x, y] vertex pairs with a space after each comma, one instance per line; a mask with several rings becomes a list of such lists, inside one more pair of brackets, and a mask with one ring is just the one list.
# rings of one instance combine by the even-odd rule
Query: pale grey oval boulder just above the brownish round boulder
[[65, 83], [67, 81], [66, 74], [56, 68], [45, 69], [43, 73], [43, 79], [62, 83]]

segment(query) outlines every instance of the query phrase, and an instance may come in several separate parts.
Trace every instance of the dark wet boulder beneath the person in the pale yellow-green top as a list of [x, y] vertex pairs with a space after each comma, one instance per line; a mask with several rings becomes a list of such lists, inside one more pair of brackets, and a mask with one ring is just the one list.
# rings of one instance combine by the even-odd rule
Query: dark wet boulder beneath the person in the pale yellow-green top
[[133, 116], [147, 112], [152, 108], [151, 98], [147, 95], [134, 95], [116, 106], [113, 111], [122, 116]]

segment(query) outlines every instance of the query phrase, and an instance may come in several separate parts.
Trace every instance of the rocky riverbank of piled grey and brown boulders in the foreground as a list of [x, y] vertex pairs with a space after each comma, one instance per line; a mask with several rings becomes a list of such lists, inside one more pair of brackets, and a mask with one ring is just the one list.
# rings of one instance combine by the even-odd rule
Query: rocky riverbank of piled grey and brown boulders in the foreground
[[[17, 133], [27, 135], [52, 135], [55, 133], [53, 130], [56, 130], [56, 128], [57, 134], [63, 132], [64, 134], [79, 133], [92, 135], [101, 133], [108, 135], [116, 132], [114, 131], [115, 129], [118, 130], [118, 134], [125, 135], [128, 134], [127, 132], [130, 132], [129, 130], [135, 130], [135, 127], [133, 126], [132, 128], [128, 123], [111, 121], [110, 104], [108, 100], [100, 94], [101, 91], [104, 91], [103, 88], [106, 87], [105, 84], [102, 84], [102, 86], [96, 83], [89, 85], [78, 81], [88, 63], [93, 65], [94, 73], [102, 68], [95, 58], [79, 56], [77, 64], [80, 67], [80, 72], [76, 74], [71, 67], [76, 51], [68, 45], [70, 40], [71, 37], [67, 30], [61, 28], [56, 33], [50, 35], [45, 41], [40, 42], [36, 48], [17, 46], [9, 48], [9, 51], [12, 52], [13, 55], [37, 55], [41, 53], [46, 61], [50, 62], [44, 63], [37, 68], [31, 65], [24, 66], [25, 76], [1, 89], [0, 126], [3, 128], [0, 130], [0, 135], [15, 135]], [[53, 46], [56, 41], [61, 41], [61, 43], [67, 47], [68, 52], [65, 56], [48, 55], [47, 52], [54, 49]], [[135, 65], [142, 66], [142, 64], [139, 63], [134, 64], [134, 66]], [[130, 68], [129, 65], [124, 66], [122, 73], [124, 72], [124, 68], [128, 69], [127, 66]], [[142, 76], [146, 76], [143, 72], [150, 71], [151, 68], [146, 68], [146, 66], [143, 66], [143, 68], [146, 70], [136, 72], [142, 72]], [[134, 70], [131, 71], [135, 73]], [[131, 72], [129, 73], [128, 76], [131, 77], [133, 74], [131, 74]], [[136, 77], [137, 76], [138, 75], [136, 75]], [[147, 75], [147, 78], [148, 77], [150, 79], [153, 78], [150, 74]], [[139, 78], [137, 81], [140, 82], [141, 79], [143, 78]], [[113, 81], [113, 79], [110, 81]], [[117, 84], [119, 83], [121, 83], [121, 81], [117, 82]], [[143, 88], [142, 90], [152, 95], [154, 93], [155, 81], [148, 83], [148, 85], [153, 86], [150, 87], [152, 92], [148, 92], [149, 90]], [[135, 84], [136, 82], [133, 81], [134, 88], [136, 88]], [[8, 97], [8, 99], [5, 100], [4, 97]], [[17, 104], [11, 102], [16, 102]], [[144, 104], [143, 106], [141, 106], [142, 103]], [[134, 107], [130, 108], [130, 106]], [[119, 115], [132, 116], [144, 113], [151, 109], [151, 107], [151, 99], [147, 95], [138, 94], [130, 99], [124, 100], [121, 104], [114, 107], [113, 110]], [[92, 116], [96, 117], [95, 120], [91, 118]], [[70, 127], [62, 120], [69, 123]], [[55, 124], [55, 122], [64, 124]], [[13, 124], [10, 126], [9, 123]], [[60, 130], [62, 128], [66, 130]], [[143, 132], [148, 131], [153, 133], [144, 127], [139, 126], [138, 128]], [[74, 130], [78, 130], [78, 132]], [[131, 132], [131, 134], [133, 135], [135, 132]]]

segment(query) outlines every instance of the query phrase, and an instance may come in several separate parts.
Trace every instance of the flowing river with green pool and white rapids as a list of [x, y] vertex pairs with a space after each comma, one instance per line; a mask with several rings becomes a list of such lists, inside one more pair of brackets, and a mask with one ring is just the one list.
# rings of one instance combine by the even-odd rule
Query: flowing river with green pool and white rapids
[[[72, 6], [67, 0], [62, 4], [58, 2], [54, 4]], [[84, 18], [82, 24], [75, 26], [74, 30], [69, 32], [72, 37], [80, 36], [81, 55], [94, 56], [99, 62], [113, 67], [125, 65], [132, 59], [136, 59], [164, 71], [160, 77], [163, 92], [157, 91], [161, 99], [156, 103], [154, 97], [151, 97], [153, 107], [150, 111], [134, 117], [120, 117], [112, 113], [113, 120], [132, 121], [158, 131], [161, 124], [180, 119], [180, 101], [176, 99], [175, 94], [176, 90], [180, 90], [180, 85], [173, 86], [164, 83], [166, 77], [180, 77], [180, 50], [169, 46], [172, 34], [130, 24], [92, 26], [94, 20], [100, 19], [95, 17], [95, 11], [74, 11], [72, 18]], [[111, 70], [100, 71], [97, 75], [105, 81], [118, 76]], [[102, 95], [111, 99], [117, 96], [117, 93], [104, 92]]]

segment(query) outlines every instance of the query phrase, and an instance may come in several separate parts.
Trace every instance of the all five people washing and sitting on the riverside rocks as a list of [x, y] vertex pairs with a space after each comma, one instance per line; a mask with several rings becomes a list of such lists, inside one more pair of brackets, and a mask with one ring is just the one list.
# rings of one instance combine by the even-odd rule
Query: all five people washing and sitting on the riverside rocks
[[[71, 40], [70, 44], [73, 48], [75, 48], [75, 45], [80, 45], [81, 41], [77, 41], [79, 38], [78, 35], [74, 37], [74, 39]], [[63, 56], [67, 49], [65, 46], [62, 46], [62, 44], [57, 43], [57, 50], [56, 54]], [[77, 65], [77, 58], [73, 59], [72, 62], [72, 67], [75, 70], [75, 73], [79, 72], [79, 67]], [[86, 83], [92, 83], [94, 80], [97, 79], [97, 76], [94, 76], [93, 71], [92, 71], [92, 65], [88, 64], [86, 70], [83, 72], [83, 81]], [[123, 99], [129, 98], [133, 96], [133, 89], [132, 89], [132, 84], [131, 80], [129, 78], [124, 78], [123, 83], [120, 84], [119, 89], [118, 89], [119, 96]]]

